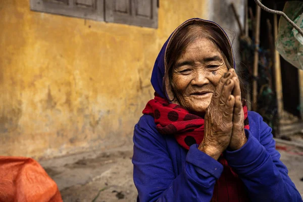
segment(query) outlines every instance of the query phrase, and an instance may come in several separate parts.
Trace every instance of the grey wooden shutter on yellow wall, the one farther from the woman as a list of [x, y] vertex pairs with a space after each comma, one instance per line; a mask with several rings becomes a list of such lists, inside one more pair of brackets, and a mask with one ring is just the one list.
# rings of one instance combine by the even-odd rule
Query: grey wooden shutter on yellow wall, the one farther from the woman
[[30, 0], [34, 11], [104, 21], [104, 0]]

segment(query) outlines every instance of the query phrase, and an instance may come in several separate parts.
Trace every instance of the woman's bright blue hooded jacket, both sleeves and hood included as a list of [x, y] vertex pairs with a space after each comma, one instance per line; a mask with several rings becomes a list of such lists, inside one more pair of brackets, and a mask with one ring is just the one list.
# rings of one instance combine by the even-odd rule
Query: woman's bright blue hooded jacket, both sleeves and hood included
[[[191, 19], [200, 20], [200, 19]], [[186, 21], [188, 22], [188, 21]], [[185, 22], [185, 23], [186, 23]], [[169, 39], [168, 39], [169, 40]], [[162, 97], [164, 54], [168, 40], [156, 60], [151, 84]], [[235, 65], [234, 65], [235, 66]], [[275, 149], [272, 129], [255, 112], [248, 112], [247, 142], [224, 155], [247, 188], [251, 201], [302, 201]], [[197, 149], [180, 146], [174, 136], [161, 135], [154, 118], [143, 115], [134, 129], [134, 183], [138, 201], [210, 201], [223, 166]], [[228, 201], [228, 200], [226, 200]]]

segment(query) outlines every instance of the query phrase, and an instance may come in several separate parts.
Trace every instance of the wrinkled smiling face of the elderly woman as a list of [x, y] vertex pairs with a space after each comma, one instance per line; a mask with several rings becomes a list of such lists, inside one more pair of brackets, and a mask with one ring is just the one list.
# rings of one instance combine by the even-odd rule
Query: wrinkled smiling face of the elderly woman
[[228, 71], [219, 48], [209, 39], [198, 38], [173, 68], [172, 87], [180, 105], [193, 114], [205, 114], [220, 78]]

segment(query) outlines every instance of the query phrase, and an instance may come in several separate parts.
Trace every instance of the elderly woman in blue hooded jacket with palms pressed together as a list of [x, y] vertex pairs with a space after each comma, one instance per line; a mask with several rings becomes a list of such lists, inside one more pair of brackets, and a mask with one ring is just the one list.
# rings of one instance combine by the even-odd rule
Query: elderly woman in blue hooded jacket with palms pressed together
[[247, 112], [231, 43], [190, 19], [164, 44], [134, 129], [137, 201], [302, 201], [272, 129]]

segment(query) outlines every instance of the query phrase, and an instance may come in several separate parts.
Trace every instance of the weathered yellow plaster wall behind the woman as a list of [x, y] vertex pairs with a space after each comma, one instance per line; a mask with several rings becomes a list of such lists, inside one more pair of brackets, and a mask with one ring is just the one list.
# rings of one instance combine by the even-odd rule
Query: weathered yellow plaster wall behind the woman
[[170, 33], [204, 0], [160, 0], [158, 29], [0, 1], [0, 155], [49, 158], [131, 142]]

